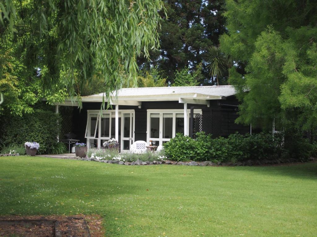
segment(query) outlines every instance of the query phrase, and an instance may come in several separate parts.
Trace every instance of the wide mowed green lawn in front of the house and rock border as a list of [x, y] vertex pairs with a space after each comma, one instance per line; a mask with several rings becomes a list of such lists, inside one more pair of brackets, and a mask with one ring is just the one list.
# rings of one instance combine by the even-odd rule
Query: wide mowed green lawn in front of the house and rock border
[[0, 215], [99, 214], [106, 236], [316, 236], [317, 163], [122, 166], [0, 157]]

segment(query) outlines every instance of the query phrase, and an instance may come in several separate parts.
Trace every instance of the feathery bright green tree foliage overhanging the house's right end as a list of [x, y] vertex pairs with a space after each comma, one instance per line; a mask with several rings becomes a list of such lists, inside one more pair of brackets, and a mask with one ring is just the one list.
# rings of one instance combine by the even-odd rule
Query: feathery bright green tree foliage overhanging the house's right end
[[[242, 101], [238, 122], [270, 127], [273, 119], [317, 123], [317, 2], [226, 0], [221, 49], [245, 73], [230, 70]], [[245, 91], [249, 91], [245, 93]]]

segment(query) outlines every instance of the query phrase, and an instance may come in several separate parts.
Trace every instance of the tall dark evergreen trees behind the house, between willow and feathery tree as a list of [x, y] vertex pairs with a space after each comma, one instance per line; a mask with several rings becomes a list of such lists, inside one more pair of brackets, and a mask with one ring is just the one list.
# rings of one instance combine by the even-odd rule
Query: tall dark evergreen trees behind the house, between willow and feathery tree
[[[157, 65], [174, 83], [176, 71], [185, 67], [193, 73], [202, 63], [202, 74], [198, 84], [215, 84], [204, 62], [204, 52], [208, 46], [219, 44], [219, 35], [224, 33], [224, 0], [166, 0], [168, 18], [161, 21], [159, 31], [160, 50], [151, 53], [151, 63], [140, 58], [141, 68]], [[164, 17], [164, 15], [162, 15]]]

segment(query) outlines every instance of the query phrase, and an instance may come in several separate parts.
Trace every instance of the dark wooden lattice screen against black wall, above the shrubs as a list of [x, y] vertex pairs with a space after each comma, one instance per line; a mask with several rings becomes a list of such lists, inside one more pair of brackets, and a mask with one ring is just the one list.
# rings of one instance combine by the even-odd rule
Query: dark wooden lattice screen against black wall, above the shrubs
[[[221, 136], [221, 114], [196, 114], [194, 121], [194, 134], [205, 132], [213, 138]], [[195, 135], [194, 135], [195, 137]]]

